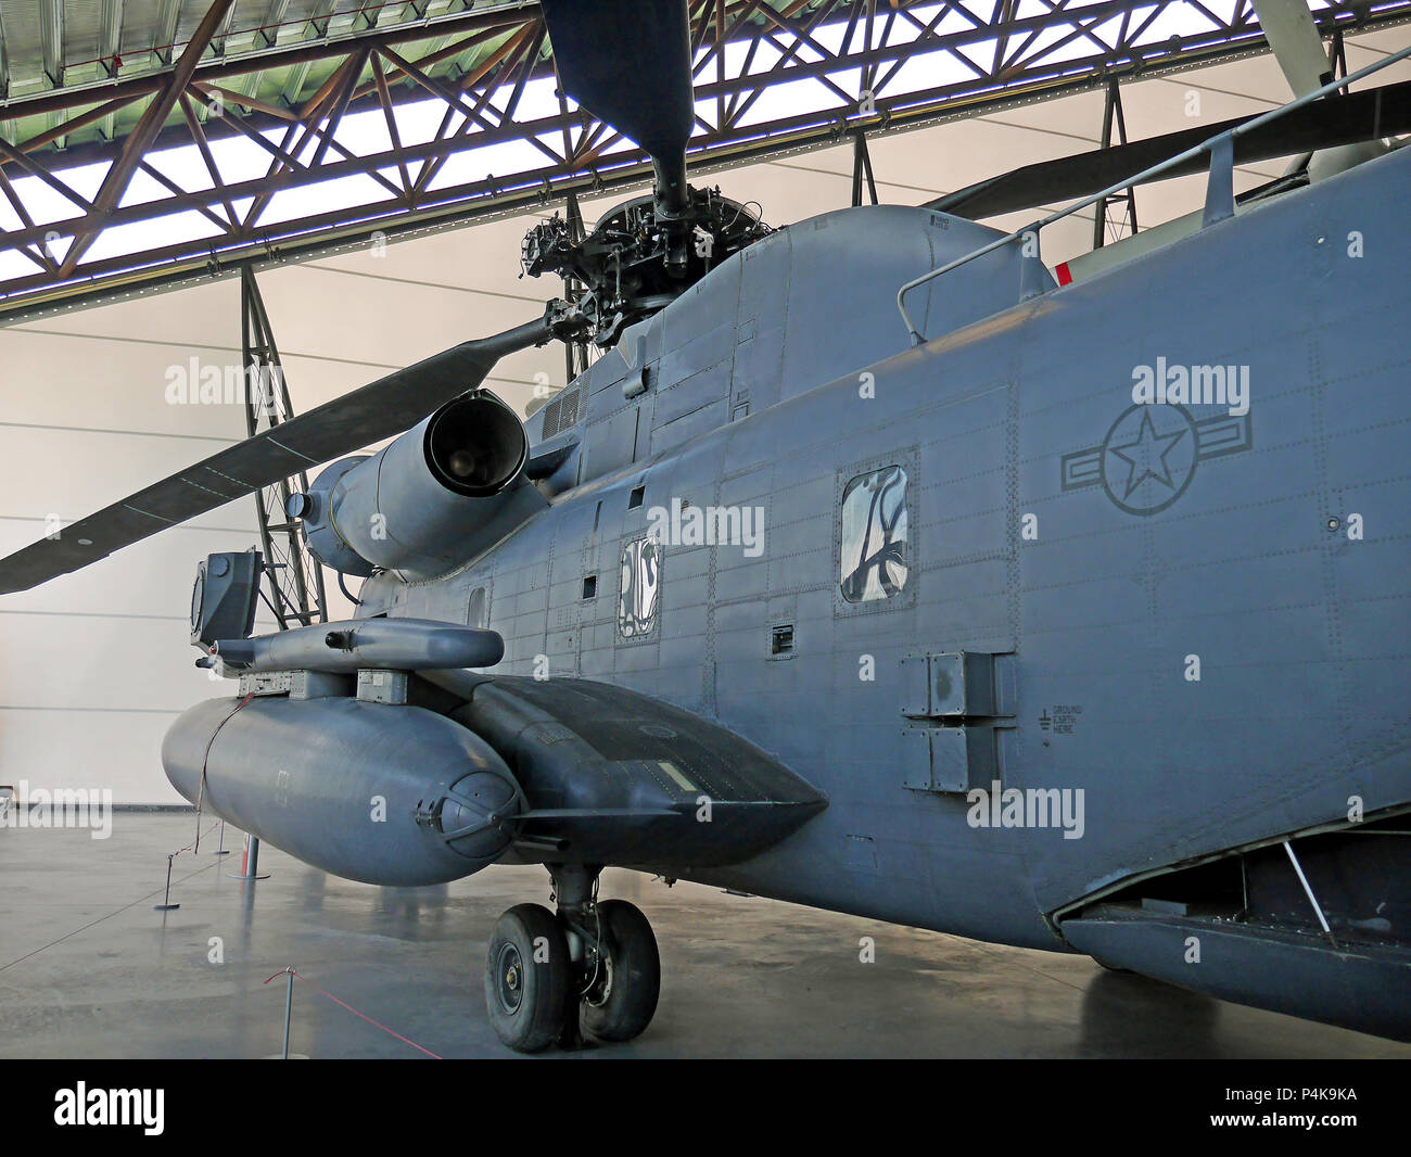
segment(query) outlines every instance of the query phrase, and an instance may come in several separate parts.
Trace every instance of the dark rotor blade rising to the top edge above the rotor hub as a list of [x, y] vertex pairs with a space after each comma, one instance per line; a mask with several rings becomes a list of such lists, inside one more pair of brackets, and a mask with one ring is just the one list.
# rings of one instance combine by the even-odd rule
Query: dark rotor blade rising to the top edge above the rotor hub
[[686, 205], [696, 124], [686, 0], [542, 0], [563, 90], [652, 158], [658, 196]]

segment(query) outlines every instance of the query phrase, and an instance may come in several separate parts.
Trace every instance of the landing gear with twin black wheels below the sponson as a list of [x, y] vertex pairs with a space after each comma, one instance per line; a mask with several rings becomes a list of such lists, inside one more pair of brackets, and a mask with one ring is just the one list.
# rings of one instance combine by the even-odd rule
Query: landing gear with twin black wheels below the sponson
[[485, 1007], [518, 1053], [555, 1041], [626, 1041], [652, 1023], [662, 988], [656, 937], [626, 900], [597, 902], [601, 868], [550, 865], [557, 913], [516, 904], [499, 917], [485, 955]]

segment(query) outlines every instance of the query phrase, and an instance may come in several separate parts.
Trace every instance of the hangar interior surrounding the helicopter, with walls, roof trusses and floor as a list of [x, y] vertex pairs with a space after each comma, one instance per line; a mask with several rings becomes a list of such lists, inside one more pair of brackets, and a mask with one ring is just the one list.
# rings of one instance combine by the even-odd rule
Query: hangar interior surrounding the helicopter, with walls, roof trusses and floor
[[[1333, 76], [1407, 47], [1405, 0], [1311, 7]], [[851, 205], [928, 203], [1292, 99], [1250, 0], [696, 0], [690, 11], [691, 179], [776, 229]], [[1405, 80], [1411, 61], [1376, 83]], [[1239, 164], [1235, 192], [1288, 168]], [[244, 380], [251, 312], [303, 413], [536, 317], [562, 285], [523, 277], [526, 230], [570, 214], [591, 227], [649, 181], [631, 140], [556, 92], [538, 4], [0, 0], [0, 553], [246, 437], [230, 384]], [[1044, 262], [1077, 264], [1199, 212], [1205, 190], [1192, 174], [1115, 193], [1046, 229]], [[985, 223], [1017, 230], [1061, 206]], [[900, 322], [897, 337], [900, 349]], [[487, 385], [529, 415], [591, 357], [555, 341], [505, 357]], [[258, 981], [291, 962], [437, 1055], [492, 1050], [463, 981], [492, 911], [538, 897], [542, 873], [375, 889], [267, 848], [271, 879], [250, 886], [227, 878], [233, 861], [210, 856], [207, 834], [175, 861], [181, 909], [151, 910], [168, 854], [193, 835], [162, 773], [162, 734], [222, 693], [192, 666], [193, 569], [260, 542], [243, 499], [0, 601], [0, 785], [14, 810], [62, 789], [110, 790], [130, 808], [104, 842], [0, 830], [0, 1054], [278, 1053], [282, 1000]], [[325, 618], [349, 617], [333, 571], [301, 574], [309, 591], [322, 583]], [[257, 631], [278, 626], [267, 604]], [[238, 834], [223, 838], [238, 859]], [[624, 872], [611, 886], [648, 906], [677, 952], [673, 1012], [626, 1055], [924, 1055], [938, 1040], [964, 1055], [1411, 1055], [1084, 957], [696, 885], [669, 893]], [[213, 937], [233, 962], [219, 974], [203, 965]], [[859, 937], [879, 945], [880, 983], [854, 979]], [[401, 991], [413, 969], [415, 993]], [[296, 1051], [409, 1055], [298, 999]], [[707, 1012], [724, 1002], [728, 1016]]]

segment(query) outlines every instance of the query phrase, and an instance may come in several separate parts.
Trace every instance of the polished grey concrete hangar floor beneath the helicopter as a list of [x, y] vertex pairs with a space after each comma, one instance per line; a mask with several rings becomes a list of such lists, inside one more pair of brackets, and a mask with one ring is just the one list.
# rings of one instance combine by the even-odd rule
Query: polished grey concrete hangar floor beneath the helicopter
[[[166, 854], [190, 814], [120, 813], [111, 838], [0, 830], [0, 1057], [265, 1057], [279, 1050], [285, 965], [442, 1057], [511, 1057], [485, 1022], [485, 940], [511, 904], [547, 902], [538, 868], [442, 888], [334, 879], [264, 848]], [[1086, 957], [976, 944], [871, 920], [604, 873], [652, 920], [662, 1000], [629, 1046], [549, 1057], [1411, 1057], [1411, 1047], [1226, 1005]], [[224, 962], [210, 961], [219, 937]], [[858, 959], [873, 937], [876, 962]], [[418, 1057], [306, 985], [293, 1051]]]

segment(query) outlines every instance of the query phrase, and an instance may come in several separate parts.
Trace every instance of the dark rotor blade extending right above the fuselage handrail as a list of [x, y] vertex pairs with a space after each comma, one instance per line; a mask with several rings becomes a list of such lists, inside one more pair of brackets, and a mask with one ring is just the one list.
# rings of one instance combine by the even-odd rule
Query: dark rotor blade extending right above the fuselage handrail
[[[1178, 157], [1211, 137], [1226, 133], [1253, 117], [1182, 128], [1144, 141], [1098, 148], [1024, 165], [965, 189], [927, 202], [927, 209], [979, 220], [1040, 205], [1061, 205], [1102, 192], [1125, 178]], [[1331, 96], [1271, 120], [1235, 138], [1235, 164], [1271, 161], [1298, 152], [1315, 152], [1335, 145], [1356, 144], [1411, 131], [1411, 80], [1380, 89]], [[1201, 154], [1165, 169], [1156, 181], [1205, 172], [1209, 157]]]

